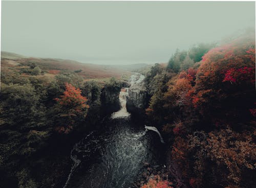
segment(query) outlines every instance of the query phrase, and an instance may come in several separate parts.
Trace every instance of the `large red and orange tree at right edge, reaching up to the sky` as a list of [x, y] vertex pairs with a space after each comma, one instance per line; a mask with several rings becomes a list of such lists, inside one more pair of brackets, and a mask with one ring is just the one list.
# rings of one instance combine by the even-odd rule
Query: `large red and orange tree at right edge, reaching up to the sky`
[[242, 37], [203, 56], [191, 99], [205, 119], [215, 116], [241, 121], [251, 116], [255, 102], [254, 49], [254, 37]]

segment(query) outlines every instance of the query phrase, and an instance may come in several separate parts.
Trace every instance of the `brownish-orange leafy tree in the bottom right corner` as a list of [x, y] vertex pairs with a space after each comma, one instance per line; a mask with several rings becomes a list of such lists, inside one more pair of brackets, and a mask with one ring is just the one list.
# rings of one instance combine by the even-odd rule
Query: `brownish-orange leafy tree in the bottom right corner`
[[[222, 184], [226, 183], [228, 187], [236, 187], [236, 185], [242, 187], [240, 183], [245, 183], [241, 182], [242, 174], [250, 173], [255, 169], [253, 159], [256, 157], [256, 148], [253, 142], [253, 131], [238, 133], [229, 127], [212, 131], [204, 147], [207, 157], [215, 162], [221, 176], [226, 177], [223, 178]], [[244, 187], [253, 186], [249, 185], [249, 182], [246, 182], [248, 186], [244, 185]]]

